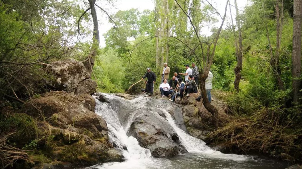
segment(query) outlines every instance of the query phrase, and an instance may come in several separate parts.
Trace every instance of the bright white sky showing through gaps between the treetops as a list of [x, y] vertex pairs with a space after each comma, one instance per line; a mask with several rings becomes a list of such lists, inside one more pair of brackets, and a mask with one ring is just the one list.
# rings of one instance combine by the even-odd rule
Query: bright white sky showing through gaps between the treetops
[[[225, 8], [225, 4], [226, 4], [226, 0], [208, 0], [210, 3], [212, 3], [212, 5], [214, 6], [214, 8], [217, 9], [217, 11], [223, 15], [224, 14], [224, 8]], [[234, 5], [234, 0], [230, 0], [230, 3], [232, 5]], [[244, 7], [248, 4], [250, 4], [250, 2], [248, 2], [248, 0], [237, 0], [237, 4], [238, 4], [238, 8], [239, 10], [244, 10]], [[110, 15], [114, 15], [117, 11], [119, 10], [128, 10], [131, 8], [137, 8], [139, 11], [143, 11], [145, 9], [149, 9], [149, 10], [153, 10], [154, 9], [154, 2], [153, 0], [117, 0], [116, 2], [114, 2], [114, 4], [112, 5], [102, 5], [101, 6], [103, 8], [105, 8]], [[229, 10], [229, 8], [228, 8]], [[235, 18], [235, 8], [232, 7], [232, 15], [233, 15], [233, 19]], [[105, 47], [105, 39], [103, 34], [105, 32], [107, 32], [109, 29], [111, 29], [112, 24], [108, 23], [108, 17], [106, 16], [106, 14], [104, 14], [104, 12], [102, 11], [97, 11], [98, 13], [98, 21], [99, 21], [99, 31], [100, 31], [100, 46], [101, 47]], [[242, 11], [239, 11], [239, 13], [242, 13]], [[227, 19], [230, 21], [230, 12], [227, 11]], [[236, 22], [234, 22], [236, 23]], [[221, 24], [221, 20], [220, 22], [216, 23], [215, 25], [210, 25], [206, 28], [203, 28], [202, 30], [202, 34], [203, 35], [210, 35], [210, 30], [212, 27], [219, 27]], [[226, 26], [226, 24], [224, 24], [224, 27]]]

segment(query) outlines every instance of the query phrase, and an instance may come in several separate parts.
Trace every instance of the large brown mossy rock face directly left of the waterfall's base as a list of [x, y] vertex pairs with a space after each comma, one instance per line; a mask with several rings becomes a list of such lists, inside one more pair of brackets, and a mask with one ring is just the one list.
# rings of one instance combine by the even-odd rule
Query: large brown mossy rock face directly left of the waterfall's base
[[108, 140], [106, 121], [94, 109], [92, 96], [65, 91], [43, 94], [23, 106], [41, 125], [37, 143], [53, 161], [84, 165], [123, 161], [120, 150]]

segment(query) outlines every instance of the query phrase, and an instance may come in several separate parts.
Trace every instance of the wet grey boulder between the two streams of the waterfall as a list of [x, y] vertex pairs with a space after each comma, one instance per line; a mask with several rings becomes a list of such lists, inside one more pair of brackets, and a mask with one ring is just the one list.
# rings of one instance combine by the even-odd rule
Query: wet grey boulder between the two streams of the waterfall
[[168, 122], [152, 113], [139, 113], [128, 134], [135, 137], [140, 146], [149, 149], [154, 157], [171, 157], [187, 152]]

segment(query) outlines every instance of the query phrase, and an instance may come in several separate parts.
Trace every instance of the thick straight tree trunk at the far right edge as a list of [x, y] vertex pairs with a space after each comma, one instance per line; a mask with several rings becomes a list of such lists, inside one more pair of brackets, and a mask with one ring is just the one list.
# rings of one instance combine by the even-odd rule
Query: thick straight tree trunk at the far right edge
[[293, 101], [299, 103], [300, 75], [301, 75], [301, 23], [302, 0], [294, 0], [293, 23], [293, 53], [292, 53], [292, 78]]

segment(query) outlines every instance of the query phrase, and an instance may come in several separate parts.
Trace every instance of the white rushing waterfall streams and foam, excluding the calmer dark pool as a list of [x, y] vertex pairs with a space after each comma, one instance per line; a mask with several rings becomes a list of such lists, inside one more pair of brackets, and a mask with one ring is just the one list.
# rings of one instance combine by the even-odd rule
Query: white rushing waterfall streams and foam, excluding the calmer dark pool
[[[168, 121], [169, 125], [171, 125], [178, 134], [181, 144], [185, 146], [188, 152], [197, 153], [207, 158], [227, 159], [233, 161], [245, 161], [249, 159], [249, 157], [244, 155], [223, 154], [212, 150], [204, 141], [192, 137], [180, 129], [167, 111], [167, 108], [175, 106], [174, 103], [164, 100], [154, 100], [147, 97], [137, 97], [132, 100], [125, 100], [124, 98], [114, 96], [112, 94], [103, 95], [108, 99], [109, 103], [100, 102], [97, 99], [98, 97], [94, 96], [96, 99], [95, 113], [100, 115], [107, 122], [109, 139], [120, 147], [125, 157], [125, 161], [110, 162], [89, 168], [175, 168], [172, 167], [172, 162], [168, 158], [152, 157], [149, 149], [141, 147], [137, 139], [134, 137], [127, 136], [127, 132], [133, 122], [135, 113], [138, 113], [141, 109], [146, 109], [150, 106], [151, 108], [154, 106], [154, 108], [150, 109], [149, 113], [158, 115], [158, 111], [161, 111], [165, 115], [165, 120]], [[130, 112], [128, 113], [129, 116], [126, 117], [126, 122], [120, 121], [120, 114], [123, 114], [123, 112]], [[161, 116], [159, 117], [164, 118]], [[123, 150], [123, 146], [126, 146], [127, 150]]]

